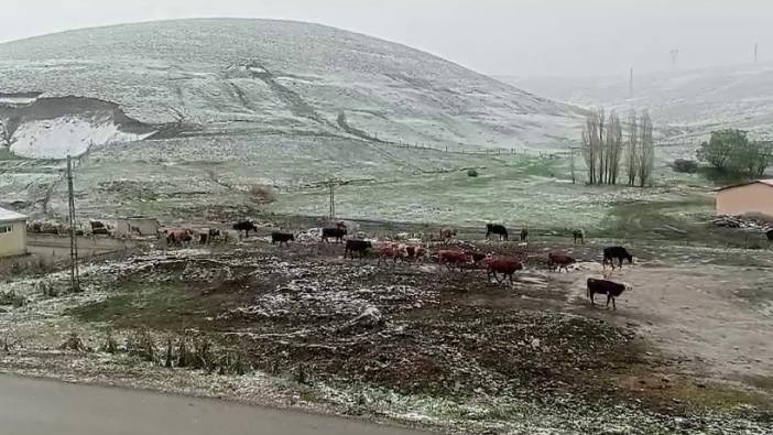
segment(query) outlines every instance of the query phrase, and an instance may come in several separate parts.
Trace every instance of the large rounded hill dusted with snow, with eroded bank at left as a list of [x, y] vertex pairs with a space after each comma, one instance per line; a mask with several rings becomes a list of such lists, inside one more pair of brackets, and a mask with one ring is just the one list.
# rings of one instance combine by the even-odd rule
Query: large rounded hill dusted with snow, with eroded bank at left
[[[280, 132], [449, 148], [555, 145], [575, 138], [580, 118], [571, 106], [403, 45], [288, 21], [182, 20], [33, 37], [0, 44], [0, 94], [115, 102], [159, 137]], [[73, 122], [53, 124], [67, 131], [70, 123], [72, 140], [87, 142], [85, 126]], [[86, 135], [121, 139], [109, 126]], [[18, 130], [24, 155], [36, 154], [34, 128]]]

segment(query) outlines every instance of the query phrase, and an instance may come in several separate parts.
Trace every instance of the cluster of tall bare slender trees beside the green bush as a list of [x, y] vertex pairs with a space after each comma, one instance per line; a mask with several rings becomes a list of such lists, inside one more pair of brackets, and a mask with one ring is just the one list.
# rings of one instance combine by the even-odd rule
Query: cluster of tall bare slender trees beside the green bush
[[[618, 184], [623, 175], [621, 161], [628, 185], [644, 187], [652, 184], [655, 163], [652, 131], [652, 119], [646, 110], [641, 116], [632, 110], [625, 123], [614, 111], [609, 116], [605, 116], [603, 109], [590, 112], [583, 126], [581, 146], [588, 184]], [[574, 162], [571, 165], [574, 173]]]

